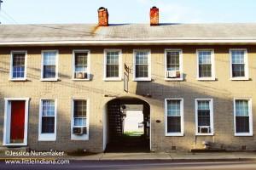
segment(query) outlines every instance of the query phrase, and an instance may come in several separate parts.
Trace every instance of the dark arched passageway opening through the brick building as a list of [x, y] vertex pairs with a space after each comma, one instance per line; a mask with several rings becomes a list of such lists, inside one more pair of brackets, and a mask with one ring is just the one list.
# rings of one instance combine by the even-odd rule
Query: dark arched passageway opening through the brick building
[[108, 102], [104, 113], [105, 152], [150, 151], [150, 106], [137, 98]]

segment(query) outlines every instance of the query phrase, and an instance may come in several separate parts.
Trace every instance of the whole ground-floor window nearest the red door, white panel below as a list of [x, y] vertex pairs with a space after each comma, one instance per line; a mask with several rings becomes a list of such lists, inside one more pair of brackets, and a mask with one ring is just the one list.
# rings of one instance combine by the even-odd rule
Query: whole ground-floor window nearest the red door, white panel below
[[41, 99], [39, 120], [39, 140], [56, 139], [56, 101]]

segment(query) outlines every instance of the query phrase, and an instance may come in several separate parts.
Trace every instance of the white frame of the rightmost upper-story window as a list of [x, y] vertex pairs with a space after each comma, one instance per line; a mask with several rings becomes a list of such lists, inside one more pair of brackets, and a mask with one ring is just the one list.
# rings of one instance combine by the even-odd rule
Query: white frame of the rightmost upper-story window
[[[232, 51], [236, 50], [244, 50], [244, 71], [245, 76], [244, 77], [233, 77], [232, 75]], [[232, 81], [239, 81], [239, 80], [249, 80], [249, 71], [248, 71], [248, 56], [247, 56], [247, 48], [230, 48], [230, 80]]]

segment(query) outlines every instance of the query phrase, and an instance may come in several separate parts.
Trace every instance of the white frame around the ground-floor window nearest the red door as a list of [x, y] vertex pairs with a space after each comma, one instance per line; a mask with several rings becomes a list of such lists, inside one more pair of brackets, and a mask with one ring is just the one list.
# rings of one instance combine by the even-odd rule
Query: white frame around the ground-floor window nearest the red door
[[[42, 132], [42, 107], [43, 100], [55, 100], [55, 133], [41, 133]], [[39, 105], [39, 123], [38, 123], [38, 141], [55, 141], [57, 134], [57, 99], [40, 99]]]

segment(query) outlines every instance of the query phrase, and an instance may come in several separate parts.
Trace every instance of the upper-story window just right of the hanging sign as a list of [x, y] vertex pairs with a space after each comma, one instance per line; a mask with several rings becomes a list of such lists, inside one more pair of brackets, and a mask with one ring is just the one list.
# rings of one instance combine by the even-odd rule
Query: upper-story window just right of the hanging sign
[[150, 50], [134, 50], [134, 80], [151, 81]]

